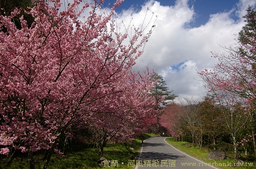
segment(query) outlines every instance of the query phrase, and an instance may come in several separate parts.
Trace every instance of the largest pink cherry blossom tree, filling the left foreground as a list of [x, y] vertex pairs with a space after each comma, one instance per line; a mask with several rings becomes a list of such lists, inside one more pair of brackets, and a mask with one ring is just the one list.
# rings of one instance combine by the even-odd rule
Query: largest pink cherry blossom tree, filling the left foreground
[[[102, 108], [119, 114], [108, 103], [118, 103], [120, 81], [129, 80], [155, 27], [145, 36], [144, 28], [134, 28], [132, 37], [117, 32], [114, 12], [121, 0], [109, 13], [100, 13], [104, 1], [78, 8], [81, 1], [74, 0], [64, 11], [59, 0], [49, 2], [53, 5], [33, 1], [26, 11], [34, 17], [31, 27], [23, 17], [20, 30], [12, 22], [19, 9], [0, 16], [7, 30], [0, 32], [0, 145], [6, 146], [0, 153], [11, 153], [10, 147], [28, 152], [30, 168], [33, 152], [41, 149], [48, 150], [47, 168], [53, 152], [60, 153], [60, 135], [69, 136], [72, 124], [87, 123]], [[88, 17], [82, 19], [86, 10]], [[135, 85], [134, 90], [141, 88]]]

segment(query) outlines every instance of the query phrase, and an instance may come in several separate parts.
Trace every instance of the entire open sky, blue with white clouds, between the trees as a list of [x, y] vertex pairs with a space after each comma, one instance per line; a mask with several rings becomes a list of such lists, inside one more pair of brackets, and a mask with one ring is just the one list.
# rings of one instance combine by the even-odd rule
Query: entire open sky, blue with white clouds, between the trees
[[[103, 6], [114, 2], [105, 0]], [[134, 25], [143, 29], [148, 23], [144, 35], [154, 25], [154, 32], [144, 46], [143, 54], [136, 60], [134, 69], [142, 71], [148, 67], [161, 74], [169, 90], [179, 96], [176, 101], [184, 97], [203, 99], [207, 90], [198, 72], [210, 70], [218, 63], [211, 57], [211, 52], [222, 54], [226, 52], [222, 46], [236, 46], [234, 39], [245, 25], [243, 16], [248, 5], [255, 8], [256, 1], [125, 0], [116, 10], [115, 23], [122, 33], [126, 29], [123, 23], [125, 27]], [[158, 16], [156, 21], [155, 18], [150, 21], [152, 13]], [[124, 42], [129, 43], [128, 40]]]

